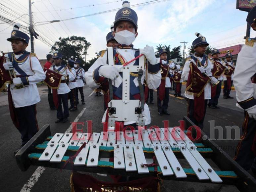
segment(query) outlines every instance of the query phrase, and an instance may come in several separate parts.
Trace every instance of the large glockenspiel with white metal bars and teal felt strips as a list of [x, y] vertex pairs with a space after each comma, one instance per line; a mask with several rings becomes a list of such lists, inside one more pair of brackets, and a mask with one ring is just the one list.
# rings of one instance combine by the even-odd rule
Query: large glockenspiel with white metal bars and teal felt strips
[[[189, 119], [185, 120], [186, 124], [191, 124]], [[256, 186], [255, 179], [248, 177], [235, 162], [231, 162], [235, 168], [230, 164], [226, 166], [232, 168], [230, 170], [219, 168], [220, 163], [217, 162], [216, 165], [211, 160], [216, 159], [216, 154], [224, 153], [217, 150], [215, 144], [211, 146], [215, 151], [206, 146], [208, 139], [192, 142], [186, 131], [180, 127], [50, 135], [49, 125], [45, 125], [16, 154], [21, 170], [25, 171], [30, 165], [37, 165], [135, 177], [158, 174], [169, 180], [223, 182], [234, 185], [240, 183], [240, 175], [240, 178], [244, 178], [243, 181]], [[66, 163], [79, 148], [76, 158]], [[223, 159], [220, 154], [219, 158], [225, 161], [223, 164], [231, 161], [228, 157]], [[244, 186], [248, 188], [248, 185]]]

